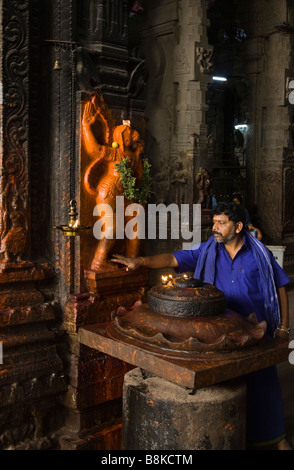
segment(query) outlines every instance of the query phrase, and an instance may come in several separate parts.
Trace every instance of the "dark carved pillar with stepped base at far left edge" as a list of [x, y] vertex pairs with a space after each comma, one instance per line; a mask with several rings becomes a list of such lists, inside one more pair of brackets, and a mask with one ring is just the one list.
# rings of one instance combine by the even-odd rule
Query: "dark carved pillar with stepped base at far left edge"
[[36, 101], [38, 7], [34, 0], [1, 2], [1, 449], [52, 447], [54, 396], [65, 389], [56, 336], [48, 327], [57, 311], [54, 271], [39, 243], [46, 213], [39, 191], [45, 180]]

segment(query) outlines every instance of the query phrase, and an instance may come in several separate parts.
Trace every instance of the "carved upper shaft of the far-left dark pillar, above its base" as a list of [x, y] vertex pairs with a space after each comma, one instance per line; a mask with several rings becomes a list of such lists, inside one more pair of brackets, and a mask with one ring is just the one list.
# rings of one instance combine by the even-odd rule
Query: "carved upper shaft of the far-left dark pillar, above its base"
[[2, 258], [4, 256], [2, 261], [5, 265], [22, 262], [28, 238], [28, 15], [28, 1], [3, 4], [5, 50], [2, 52], [5, 74], [2, 77], [4, 105], [0, 252]]

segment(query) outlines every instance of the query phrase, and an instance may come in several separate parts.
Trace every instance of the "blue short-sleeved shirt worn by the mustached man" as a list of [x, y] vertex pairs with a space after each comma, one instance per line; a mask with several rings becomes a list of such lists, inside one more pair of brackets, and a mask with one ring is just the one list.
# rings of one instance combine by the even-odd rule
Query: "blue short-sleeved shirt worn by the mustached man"
[[[174, 254], [179, 267], [177, 272], [194, 272], [205, 243], [195, 250], [180, 250]], [[289, 277], [271, 254], [276, 288], [288, 282]], [[264, 320], [264, 297], [261, 289], [259, 270], [252, 251], [244, 244], [232, 260], [222, 243], [217, 245], [215, 287], [223, 291], [227, 308], [248, 316], [256, 313], [258, 321]]]

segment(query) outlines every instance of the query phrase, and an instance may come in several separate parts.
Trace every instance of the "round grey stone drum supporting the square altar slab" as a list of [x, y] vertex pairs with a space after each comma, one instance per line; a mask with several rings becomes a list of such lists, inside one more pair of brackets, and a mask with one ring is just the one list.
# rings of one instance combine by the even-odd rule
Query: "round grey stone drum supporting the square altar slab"
[[244, 450], [246, 386], [230, 381], [193, 395], [136, 368], [125, 375], [124, 450]]

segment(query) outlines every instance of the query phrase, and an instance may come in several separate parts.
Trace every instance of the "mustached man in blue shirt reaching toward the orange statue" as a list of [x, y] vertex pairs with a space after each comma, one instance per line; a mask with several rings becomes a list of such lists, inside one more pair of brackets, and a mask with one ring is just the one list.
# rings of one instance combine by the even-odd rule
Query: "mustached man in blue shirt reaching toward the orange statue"
[[[214, 284], [226, 297], [227, 307], [247, 317], [255, 313], [266, 320], [267, 333], [289, 338], [289, 278], [272, 254], [256, 238], [244, 231], [245, 213], [235, 203], [220, 203], [213, 210], [212, 237], [192, 250], [161, 255], [126, 258], [115, 255], [114, 262], [127, 270], [140, 266], [174, 268], [193, 272], [196, 279]], [[275, 445], [291, 449], [285, 439], [283, 405], [276, 367], [245, 376], [247, 383], [247, 440], [252, 447]]]

